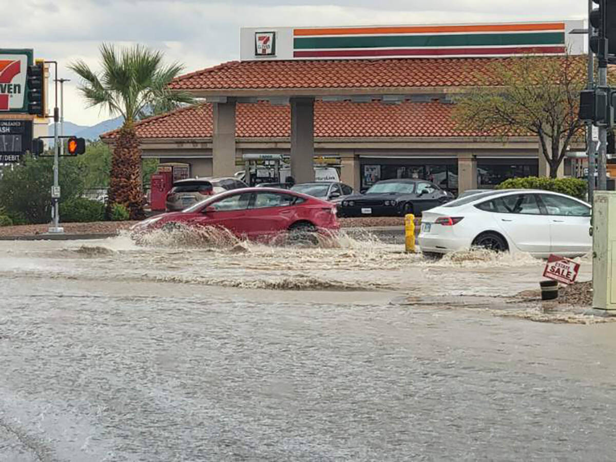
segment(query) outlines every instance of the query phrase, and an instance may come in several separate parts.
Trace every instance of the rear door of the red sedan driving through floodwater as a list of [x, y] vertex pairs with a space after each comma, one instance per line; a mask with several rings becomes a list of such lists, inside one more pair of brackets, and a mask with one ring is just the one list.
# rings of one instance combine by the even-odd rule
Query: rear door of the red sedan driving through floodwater
[[257, 237], [286, 231], [293, 223], [297, 196], [277, 192], [257, 192], [246, 211], [248, 235]]

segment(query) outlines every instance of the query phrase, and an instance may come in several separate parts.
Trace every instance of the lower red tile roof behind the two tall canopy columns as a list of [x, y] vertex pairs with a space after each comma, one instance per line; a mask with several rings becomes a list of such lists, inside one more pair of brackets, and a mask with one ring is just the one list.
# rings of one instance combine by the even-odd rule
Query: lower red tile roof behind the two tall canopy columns
[[[457, 131], [452, 120], [453, 104], [410, 102], [388, 105], [379, 101], [315, 101], [314, 135], [333, 137], [452, 137], [485, 136], [484, 133]], [[140, 138], [209, 138], [212, 136], [212, 106], [205, 103], [173, 111], [136, 123]], [[289, 137], [289, 106], [267, 102], [237, 105], [238, 138]], [[103, 134], [113, 138], [117, 131]]]

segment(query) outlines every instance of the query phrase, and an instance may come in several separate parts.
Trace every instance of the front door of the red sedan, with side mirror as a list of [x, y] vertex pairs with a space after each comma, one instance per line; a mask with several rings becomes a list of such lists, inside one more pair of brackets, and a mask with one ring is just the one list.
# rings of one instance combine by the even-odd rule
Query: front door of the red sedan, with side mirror
[[225, 196], [209, 204], [193, 222], [200, 226], [223, 227], [237, 236], [247, 235], [246, 210], [252, 193]]

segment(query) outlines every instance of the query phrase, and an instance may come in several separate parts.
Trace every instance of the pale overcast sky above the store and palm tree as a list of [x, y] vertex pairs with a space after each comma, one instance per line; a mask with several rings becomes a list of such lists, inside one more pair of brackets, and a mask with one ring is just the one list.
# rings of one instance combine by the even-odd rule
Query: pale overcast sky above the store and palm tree
[[584, 0], [0, 0], [0, 46], [33, 48], [60, 63], [65, 120], [109, 118], [86, 109], [67, 63], [97, 68], [103, 41], [142, 43], [195, 71], [239, 57], [240, 26], [399, 25], [583, 19]]

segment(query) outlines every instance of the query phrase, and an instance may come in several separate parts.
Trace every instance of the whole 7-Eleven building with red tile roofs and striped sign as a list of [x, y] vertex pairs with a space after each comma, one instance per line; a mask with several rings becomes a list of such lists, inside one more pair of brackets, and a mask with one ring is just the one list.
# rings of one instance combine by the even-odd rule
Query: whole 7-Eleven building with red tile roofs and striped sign
[[545, 174], [538, 140], [461, 129], [456, 95], [495, 60], [530, 53], [540, 65], [565, 47], [582, 55], [583, 39], [569, 34], [582, 26], [242, 28], [239, 61], [171, 83], [202, 102], [141, 121], [137, 134], [144, 157], [184, 163], [188, 176], [232, 176], [245, 153], [282, 153], [297, 182], [314, 179], [316, 160], [339, 166], [358, 190], [397, 177], [490, 188]]

